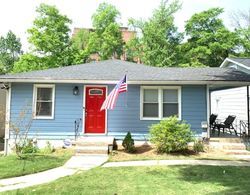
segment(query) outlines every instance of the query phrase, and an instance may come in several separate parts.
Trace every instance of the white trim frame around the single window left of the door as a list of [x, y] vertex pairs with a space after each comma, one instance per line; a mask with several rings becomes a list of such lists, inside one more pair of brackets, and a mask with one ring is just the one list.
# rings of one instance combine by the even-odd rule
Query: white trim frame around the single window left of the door
[[[36, 116], [37, 88], [52, 88], [52, 113], [51, 116]], [[54, 119], [55, 110], [55, 85], [54, 84], [34, 84], [33, 85], [33, 119]]]

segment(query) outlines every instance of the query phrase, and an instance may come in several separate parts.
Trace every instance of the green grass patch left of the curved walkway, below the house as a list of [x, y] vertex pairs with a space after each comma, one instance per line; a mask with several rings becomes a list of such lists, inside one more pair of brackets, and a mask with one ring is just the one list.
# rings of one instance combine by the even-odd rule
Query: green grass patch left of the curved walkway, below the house
[[15, 155], [0, 156], [0, 179], [45, 171], [63, 165], [73, 152], [58, 149], [52, 154], [26, 155], [18, 159]]

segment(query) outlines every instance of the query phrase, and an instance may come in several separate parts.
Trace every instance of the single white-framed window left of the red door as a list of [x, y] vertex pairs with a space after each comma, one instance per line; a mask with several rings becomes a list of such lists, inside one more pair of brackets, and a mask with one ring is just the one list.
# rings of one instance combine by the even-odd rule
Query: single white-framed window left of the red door
[[34, 85], [34, 119], [54, 118], [54, 85]]

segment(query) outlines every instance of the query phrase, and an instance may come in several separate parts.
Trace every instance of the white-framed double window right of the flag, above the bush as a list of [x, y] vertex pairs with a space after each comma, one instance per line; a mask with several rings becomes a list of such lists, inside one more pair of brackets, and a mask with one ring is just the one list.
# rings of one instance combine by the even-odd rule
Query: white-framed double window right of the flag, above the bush
[[180, 87], [141, 87], [140, 118], [142, 120], [160, 120], [176, 115], [181, 119], [180, 95]]

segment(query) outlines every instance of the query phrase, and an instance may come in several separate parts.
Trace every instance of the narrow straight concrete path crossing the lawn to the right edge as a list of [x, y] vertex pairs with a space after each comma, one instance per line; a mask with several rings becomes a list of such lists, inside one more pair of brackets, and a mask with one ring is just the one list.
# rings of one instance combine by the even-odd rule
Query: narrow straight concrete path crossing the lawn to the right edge
[[223, 160], [143, 160], [109, 162], [102, 167], [131, 167], [131, 166], [154, 166], [154, 165], [211, 165], [211, 166], [250, 166], [245, 161], [223, 161]]

